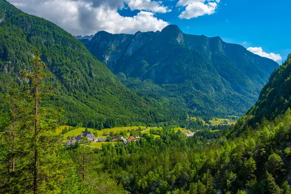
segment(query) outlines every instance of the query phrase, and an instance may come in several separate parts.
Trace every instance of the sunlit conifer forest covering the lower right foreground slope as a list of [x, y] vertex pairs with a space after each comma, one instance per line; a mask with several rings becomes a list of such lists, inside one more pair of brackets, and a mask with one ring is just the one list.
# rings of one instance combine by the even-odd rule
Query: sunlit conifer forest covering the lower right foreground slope
[[[152, 130], [161, 139], [103, 146], [104, 171], [136, 194], [291, 194], [291, 105], [280, 101], [291, 96], [290, 66], [291, 56], [272, 74], [257, 105], [230, 129], [200, 130], [190, 138]], [[269, 87], [273, 97], [265, 95]], [[260, 113], [273, 103], [282, 110]], [[250, 122], [268, 115], [271, 120]]]

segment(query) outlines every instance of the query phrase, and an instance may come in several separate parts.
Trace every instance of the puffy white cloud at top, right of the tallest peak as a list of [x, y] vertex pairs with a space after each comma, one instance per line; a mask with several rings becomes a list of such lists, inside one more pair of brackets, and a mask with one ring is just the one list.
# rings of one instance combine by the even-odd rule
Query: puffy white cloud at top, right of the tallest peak
[[[209, 2], [210, 1], [210, 2]], [[181, 19], [191, 19], [215, 13], [220, 0], [179, 0], [177, 6], [186, 7], [179, 15]]]

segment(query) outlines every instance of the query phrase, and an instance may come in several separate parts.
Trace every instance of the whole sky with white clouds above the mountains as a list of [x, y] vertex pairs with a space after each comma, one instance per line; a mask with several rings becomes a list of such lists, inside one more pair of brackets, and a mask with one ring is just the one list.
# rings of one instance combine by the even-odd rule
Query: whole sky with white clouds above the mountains
[[8, 0], [73, 35], [162, 30], [220, 36], [281, 64], [291, 53], [291, 0]]

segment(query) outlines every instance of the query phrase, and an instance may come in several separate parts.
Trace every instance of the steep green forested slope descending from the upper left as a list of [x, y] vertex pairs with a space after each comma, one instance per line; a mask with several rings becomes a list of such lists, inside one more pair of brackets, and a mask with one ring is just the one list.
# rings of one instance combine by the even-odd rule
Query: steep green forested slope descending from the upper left
[[26, 83], [20, 71], [31, 68], [34, 49], [39, 50], [53, 75], [49, 84], [57, 98], [46, 103], [65, 110], [64, 120], [70, 125], [98, 128], [153, 124], [186, 116], [186, 109], [170, 104], [168, 99], [131, 92], [68, 32], [0, 0], [2, 94], [10, 90], [13, 81], [20, 86]]

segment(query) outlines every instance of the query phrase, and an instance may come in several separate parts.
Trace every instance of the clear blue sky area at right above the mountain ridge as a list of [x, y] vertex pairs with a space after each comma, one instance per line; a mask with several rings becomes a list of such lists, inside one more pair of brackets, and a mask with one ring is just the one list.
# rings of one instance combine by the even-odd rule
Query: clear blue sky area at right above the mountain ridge
[[261, 47], [286, 59], [291, 53], [290, 6], [291, 0], [221, 0], [210, 16], [173, 17], [170, 22], [185, 33], [220, 36], [226, 42]]

